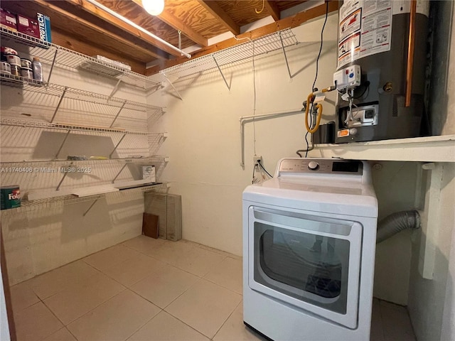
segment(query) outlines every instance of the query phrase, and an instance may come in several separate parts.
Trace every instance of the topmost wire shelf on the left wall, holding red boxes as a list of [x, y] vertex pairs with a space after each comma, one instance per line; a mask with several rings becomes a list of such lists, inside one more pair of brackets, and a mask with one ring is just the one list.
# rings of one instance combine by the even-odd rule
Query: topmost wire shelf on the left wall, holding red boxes
[[63, 48], [53, 43], [47, 43], [23, 33], [13, 32], [7, 28], [0, 28], [0, 33], [1, 38], [4, 40], [14, 40], [17, 43], [30, 46], [30, 54], [50, 63], [52, 65], [51, 68], [53, 68], [53, 65], [73, 69], [88, 68], [90, 71], [97, 72], [100, 75], [114, 78], [119, 80], [119, 82], [124, 82], [144, 90], [150, 90], [153, 87], [159, 87], [161, 85], [159, 82], [154, 82], [149, 77], [137, 72], [132, 72], [123, 67], [106, 63], [105, 61], [83, 55], [82, 53]]

